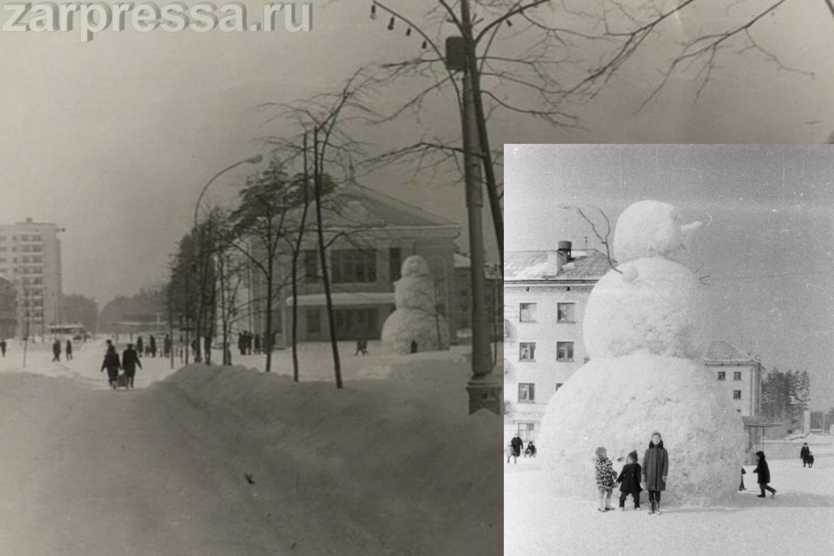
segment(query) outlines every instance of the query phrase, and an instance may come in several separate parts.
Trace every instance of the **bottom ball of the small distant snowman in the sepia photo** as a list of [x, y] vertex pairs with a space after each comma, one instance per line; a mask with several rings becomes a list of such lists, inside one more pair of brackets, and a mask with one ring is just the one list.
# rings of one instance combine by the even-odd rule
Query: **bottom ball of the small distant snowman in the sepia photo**
[[446, 319], [419, 309], [397, 309], [382, 326], [382, 346], [390, 353], [411, 353], [411, 343], [418, 352], [449, 349], [449, 326]]

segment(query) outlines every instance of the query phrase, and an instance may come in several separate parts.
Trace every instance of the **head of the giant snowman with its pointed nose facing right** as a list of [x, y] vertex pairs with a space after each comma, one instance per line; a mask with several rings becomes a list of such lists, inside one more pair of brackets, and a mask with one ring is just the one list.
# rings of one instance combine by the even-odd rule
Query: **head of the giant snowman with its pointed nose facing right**
[[701, 225], [684, 224], [681, 211], [669, 203], [634, 203], [617, 218], [614, 257], [620, 264], [646, 257], [689, 263], [691, 236]]

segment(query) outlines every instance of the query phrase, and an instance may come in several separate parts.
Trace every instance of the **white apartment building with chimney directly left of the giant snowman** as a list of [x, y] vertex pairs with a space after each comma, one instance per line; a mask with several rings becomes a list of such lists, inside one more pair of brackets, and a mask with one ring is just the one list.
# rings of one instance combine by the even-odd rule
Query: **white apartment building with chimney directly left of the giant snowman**
[[587, 357], [582, 318], [590, 290], [610, 270], [598, 251], [505, 253], [505, 436], [535, 438], [550, 397]]

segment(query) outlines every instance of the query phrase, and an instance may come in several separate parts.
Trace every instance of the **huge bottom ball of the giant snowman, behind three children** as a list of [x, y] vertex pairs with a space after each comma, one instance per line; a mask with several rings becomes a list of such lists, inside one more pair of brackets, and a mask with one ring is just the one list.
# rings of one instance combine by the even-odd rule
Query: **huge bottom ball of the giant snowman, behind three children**
[[642, 466], [654, 432], [669, 456], [664, 503], [705, 505], [738, 490], [747, 437], [730, 394], [703, 363], [635, 353], [592, 359], [550, 398], [537, 443], [551, 492], [598, 497], [595, 448], [619, 474], [632, 450]]

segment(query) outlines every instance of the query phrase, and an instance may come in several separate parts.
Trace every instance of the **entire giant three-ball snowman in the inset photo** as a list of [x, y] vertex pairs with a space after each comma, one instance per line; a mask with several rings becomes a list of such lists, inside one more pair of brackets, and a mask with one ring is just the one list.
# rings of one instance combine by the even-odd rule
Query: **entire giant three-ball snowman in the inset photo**
[[[596, 284], [582, 323], [590, 361], [548, 403], [538, 438], [553, 493], [596, 495], [597, 446], [616, 460], [651, 434], [669, 453], [663, 500], [706, 504], [736, 492], [746, 436], [703, 363], [710, 342], [704, 286], [685, 266], [691, 233], [668, 203], [641, 201], [620, 214], [619, 263]], [[645, 487], [644, 487], [645, 488]]]

